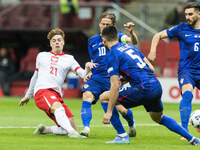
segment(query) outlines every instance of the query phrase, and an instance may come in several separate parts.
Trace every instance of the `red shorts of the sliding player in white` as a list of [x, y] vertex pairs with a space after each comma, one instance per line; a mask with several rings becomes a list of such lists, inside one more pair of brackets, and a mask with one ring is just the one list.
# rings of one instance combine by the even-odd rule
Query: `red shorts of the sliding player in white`
[[[53, 89], [41, 89], [35, 94], [35, 104], [38, 108], [44, 110], [46, 114], [58, 125], [56, 122], [54, 114], [51, 114], [50, 108], [54, 102], [60, 102], [65, 109], [65, 113], [68, 118], [73, 117], [70, 109], [67, 105], [64, 104], [63, 99], [60, 97], [60, 94], [54, 91]], [[58, 125], [59, 126], [59, 125]]]

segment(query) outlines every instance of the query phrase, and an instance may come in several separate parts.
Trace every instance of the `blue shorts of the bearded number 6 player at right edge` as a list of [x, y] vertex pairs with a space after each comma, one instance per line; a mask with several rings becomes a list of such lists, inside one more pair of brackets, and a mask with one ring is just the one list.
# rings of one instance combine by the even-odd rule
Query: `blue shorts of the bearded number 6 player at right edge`
[[179, 83], [180, 89], [182, 89], [183, 85], [188, 84], [188, 83], [191, 84], [193, 88], [197, 87], [198, 89], [200, 89], [200, 71], [180, 72], [178, 74], [178, 83]]

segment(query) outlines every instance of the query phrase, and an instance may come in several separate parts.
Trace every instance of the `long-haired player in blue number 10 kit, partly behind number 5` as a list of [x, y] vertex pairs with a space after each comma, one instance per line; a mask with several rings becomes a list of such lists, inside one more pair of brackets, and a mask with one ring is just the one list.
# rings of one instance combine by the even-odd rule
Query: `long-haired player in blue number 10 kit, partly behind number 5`
[[[92, 72], [88, 74], [85, 78], [85, 84], [83, 86], [83, 102], [81, 109], [81, 118], [83, 122], [83, 130], [80, 132], [81, 135], [89, 136], [90, 135], [90, 121], [92, 119], [92, 110], [91, 105], [95, 104], [99, 99], [99, 95], [104, 91], [110, 89], [110, 79], [107, 78], [106, 71], [106, 61], [105, 56], [108, 53], [108, 50], [104, 47], [103, 40], [101, 37], [101, 31], [107, 25], [115, 25], [116, 17], [113, 13], [104, 12], [100, 16], [99, 27], [100, 33], [94, 35], [88, 40], [88, 51], [90, 54], [91, 61], [97, 63], [98, 66], [92, 69]], [[124, 25], [125, 28], [129, 31], [131, 37], [124, 35], [120, 31], [118, 31], [119, 42], [129, 42], [132, 44], [137, 44], [137, 36], [133, 30], [134, 24], [132, 22], [128, 22]], [[127, 120], [129, 125], [129, 136], [136, 136], [135, 124], [133, 120], [133, 114], [130, 109], [125, 109], [122, 105], [116, 106], [118, 111], [122, 114], [122, 116]], [[115, 108], [115, 113], [118, 114], [118, 111]], [[121, 124], [119, 116], [114, 119], [112, 122], [113, 126], [116, 128], [118, 134], [125, 133], [125, 130]]]

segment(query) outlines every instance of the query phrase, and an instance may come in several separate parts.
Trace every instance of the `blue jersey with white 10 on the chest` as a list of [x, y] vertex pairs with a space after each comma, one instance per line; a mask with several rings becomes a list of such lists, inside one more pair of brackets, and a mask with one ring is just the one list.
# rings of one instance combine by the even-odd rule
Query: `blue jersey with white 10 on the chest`
[[[120, 31], [118, 31], [118, 35], [119, 42], [125, 42], [127, 36]], [[100, 34], [96, 34], [88, 39], [88, 51], [91, 60], [93, 60], [94, 63], [98, 63], [98, 66], [92, 69], [91, 78], [106, 77], [108, 74], [106, 70], [105, 56], [109, 51], [104, 47], [102, 36]]]

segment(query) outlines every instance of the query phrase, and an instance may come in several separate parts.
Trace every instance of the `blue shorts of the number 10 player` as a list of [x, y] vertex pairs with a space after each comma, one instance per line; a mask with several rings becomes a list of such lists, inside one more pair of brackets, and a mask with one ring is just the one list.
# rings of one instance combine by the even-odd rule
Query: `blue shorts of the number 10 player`
[[105, 91], [110, 90], [110, 78], [90, 78], [83, 85], [82, 92], [90, 91], [94, 94], [95, 100], [92, 104], [96, 104], [101, 95]]

